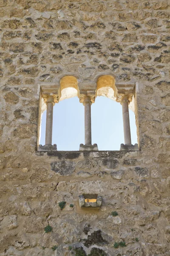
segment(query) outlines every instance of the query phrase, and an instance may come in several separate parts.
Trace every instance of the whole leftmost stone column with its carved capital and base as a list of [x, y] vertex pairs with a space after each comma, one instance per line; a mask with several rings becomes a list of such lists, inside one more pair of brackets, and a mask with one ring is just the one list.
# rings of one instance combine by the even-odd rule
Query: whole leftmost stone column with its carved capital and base
[[58, 103], [57, 95], [42, 95], [45, 104], [47, 105], [47, 113], [46, 113], [46, 130], [45, 130], [45, 145], [39, 145], [38, 150], [42, 151], [54, 151], [57, 150], [57, 145], [52, 145], [52, 130], [53, 130], [53, 107], [55, 103]]

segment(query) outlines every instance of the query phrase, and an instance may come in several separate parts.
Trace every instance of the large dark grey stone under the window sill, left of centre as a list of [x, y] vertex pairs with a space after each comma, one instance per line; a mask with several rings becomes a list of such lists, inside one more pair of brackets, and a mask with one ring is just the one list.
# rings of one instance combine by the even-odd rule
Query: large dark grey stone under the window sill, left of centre
[[51, 170], [61, 176], [72, 175], [76, 164], [71, 161], [51, 162]]

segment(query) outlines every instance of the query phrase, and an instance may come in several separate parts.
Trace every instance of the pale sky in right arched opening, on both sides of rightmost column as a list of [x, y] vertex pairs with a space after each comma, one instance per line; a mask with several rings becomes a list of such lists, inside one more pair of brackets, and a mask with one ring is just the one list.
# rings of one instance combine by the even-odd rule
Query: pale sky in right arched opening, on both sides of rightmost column
[[[131, 140], [137, 143], [135, 114], [129, 111]], [[91, 107], [92, 142], [99, 150], [119, 150], [124, 141], [122, 106], [107, 97], [96, 97]]]

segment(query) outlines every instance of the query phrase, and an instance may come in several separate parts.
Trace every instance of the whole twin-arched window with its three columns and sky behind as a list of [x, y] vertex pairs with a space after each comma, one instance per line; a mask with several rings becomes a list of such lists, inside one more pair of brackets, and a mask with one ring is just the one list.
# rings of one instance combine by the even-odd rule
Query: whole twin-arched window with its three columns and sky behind
[[[78, 150], [77, 145], [80, 145], [80, 151], [98, 151], [97, 144], [92, 144], [92, 141], [98, 144], [101, 142], [100, 150], [119, 150], [119, 145], [121, 150], [139, 149], [136, 143], [135, 116], [129, 113], [129, 108], [134, 111], [134, 83], [115, 83], [113, 76], [103, 75], [97, 79], [96, 86], [95, 83], [89, 84], [89, 81], [85, 81], [84, 84], [80, 81], [79, 88], [76, 77], [64, 76], [60, 79], [59, 86], [51, 84], [43, 87], [42, 85], [41, 89], [47, 109], [46, 119], [45, 113], [42, 118], [42, 126], [46, 126], [45, 133], [43, 132], [45, 145], [40, 144], [39, 150], [55, 151], [58, 145], [60, 151], [73, 151]], [[99, 96], [106, 98], [102, 99]], [[69, 99], [72, 97], [73, 99]], [[92, 118], [91, 105], [93, 105]], [[54, 130], [53, 139], [52, 130]], [[85, 144], [81, 143], [81, 140], [84, 141], [83, 134]], [[42, 144], [44, 144], [43, 137], [40, 141]], [[121, 143], [123, 141], [125, 144]]]

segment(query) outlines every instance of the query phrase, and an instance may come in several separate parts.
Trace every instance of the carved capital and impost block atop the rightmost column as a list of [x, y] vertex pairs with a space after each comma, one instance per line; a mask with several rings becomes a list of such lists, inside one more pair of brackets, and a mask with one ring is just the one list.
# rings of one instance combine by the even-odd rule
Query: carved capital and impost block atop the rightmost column
[[115, 84], [114, 96], [116, 102], [122, 102], [126, 98], [130, 103], [134, 94], [134, 88], [135, 84]]

